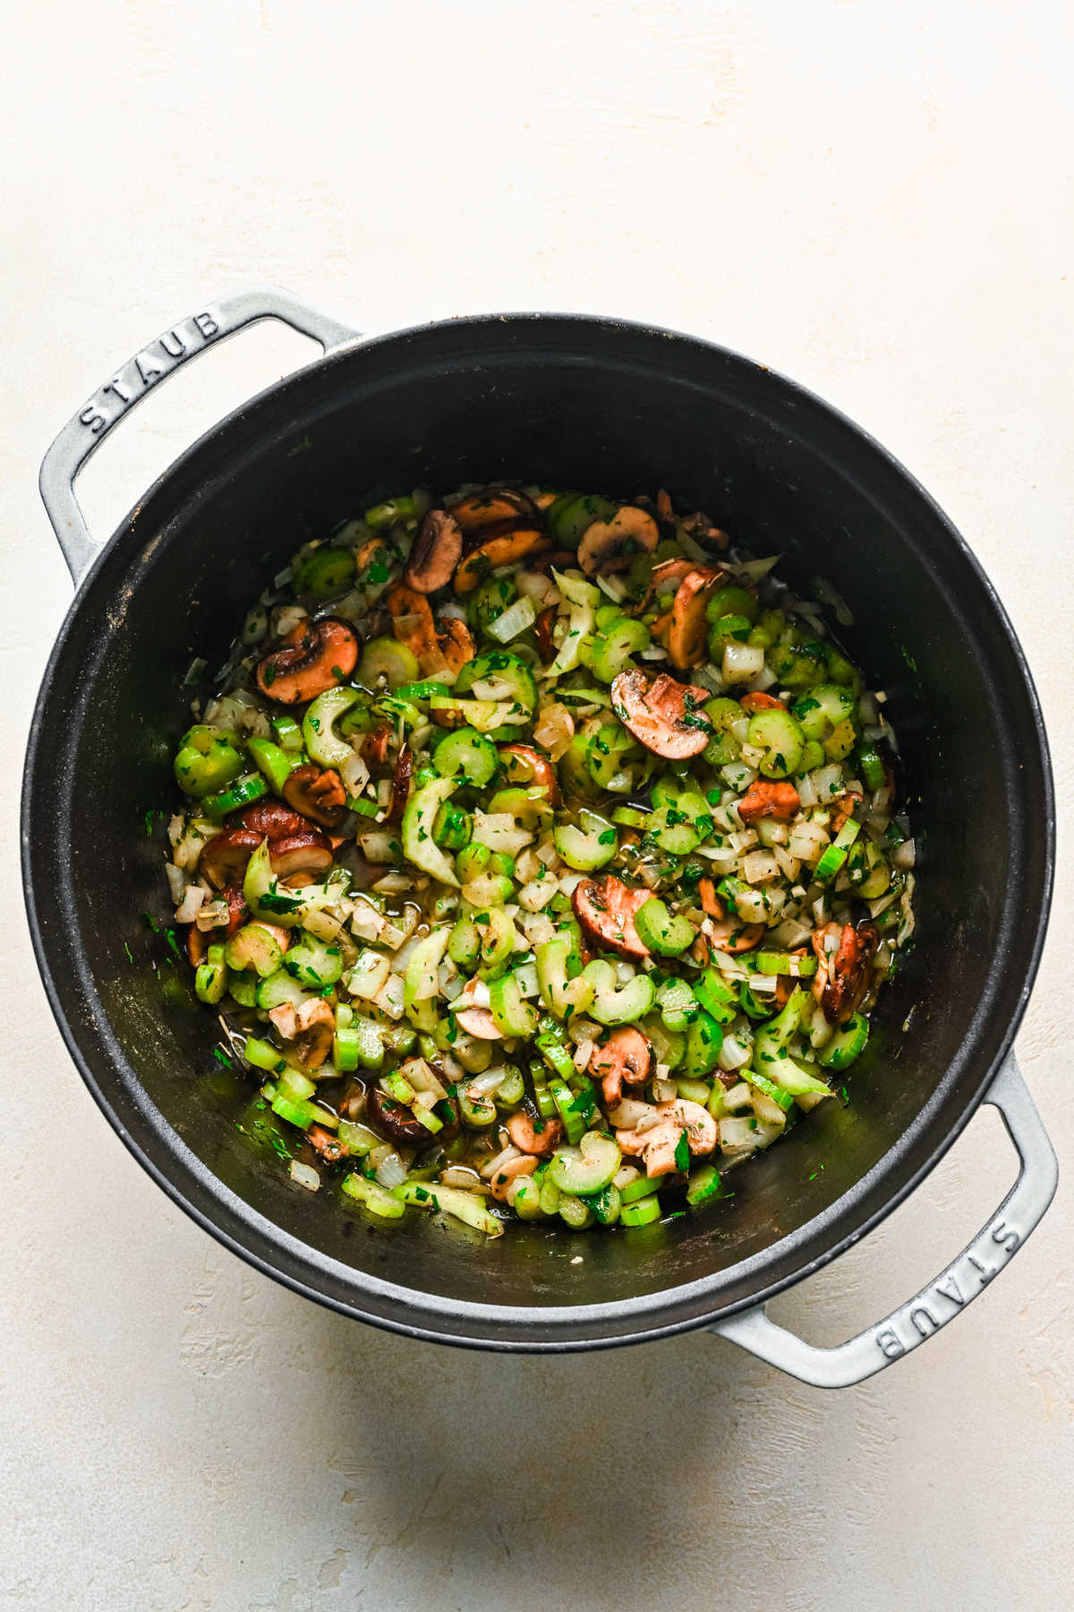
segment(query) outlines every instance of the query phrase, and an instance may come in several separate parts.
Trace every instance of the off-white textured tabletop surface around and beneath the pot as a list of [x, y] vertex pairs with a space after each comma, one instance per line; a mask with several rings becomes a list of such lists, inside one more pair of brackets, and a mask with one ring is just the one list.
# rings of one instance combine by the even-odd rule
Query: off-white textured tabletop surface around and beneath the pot
[[[1069, 8], [8, 15], [0, 1607], [1064, 1612], [1068, 1185], [965, 1319], [858, 1391], [795, 1386], [705, 1336], [533, 1361], [364, 1330], [224, 1254], [98, 1117], [37, 983], [14, 811], [69, 598], [40, 455], [143, 340], [271, 280], [366, 329], [620, 313], [820, 390], [924, 480], [993, 577], [1037, 674], [1064, 830]], [[304, 351], [262, 327], [171, 382], [85, 476], [97, 530]], [[1019, 1038], [1061, 1159], [1072, 899], [1068, 858]], [[910, 1204], [776, 1314], [816, 1341], [874, 1320], [1011, 1174], [998, 1120], [977, 1117]]]

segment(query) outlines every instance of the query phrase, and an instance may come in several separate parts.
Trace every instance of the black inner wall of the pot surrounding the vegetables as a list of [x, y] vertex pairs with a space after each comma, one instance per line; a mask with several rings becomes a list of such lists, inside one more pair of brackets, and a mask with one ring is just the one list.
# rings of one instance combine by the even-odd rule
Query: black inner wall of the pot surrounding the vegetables
[[[512, 1225], [475, 1246], [432, 1224], [380, 1232], [332, 1191], [291, 1186], [251, 1133], [253, 1086], [217, 1061], [216, 1020], [193, 1003], [166, 933], [163, 827], [192, 658], [217, 664], [293, 548], [372, 495], [496, 476], [626, 496], [668, 487], [757, 553], [784, 553], [803, 590], [815, 575], [832, 582], [855, 616], [844, 642], [887, 690], [924, 848], [916, 949], [882, 995], [850, 1104], [824, 1104], [737, 1172], [733, 1201], [631, 1235]], [[61, 651], [31, 796], [37, 919], [60, 1006], [92, 1080], [163, 1174], [176, 1180], [174, 1133], [201, 1161], [195, 1174], [227, 1183], [314, 1261], [448, 1301], [538, 1307], [712, 1278], [713, 1309], [749, 1290], [747, 1272], [781, 1240], [786, 1259], [818, 1228], [831, 1240], [847, 1194], [865, 1215], [898, 1190], [937, 1128], [948, 1133], [971, 1106], [1018, 1014], [1043, 899], [1045, 783], [987, 588], [879, 450], [718, 350], [518, 319], [340, 355], [233, 416], [153, 490], [87, 585]], [[147, 811], [164, 814], [150, 837]], [[1018, 925], [1022, 974], [1008, 956]], [[301, 1253], [288, 1259], [301, 1267]], [[324, 1286], [346, 1301], [346, 1272]]]

